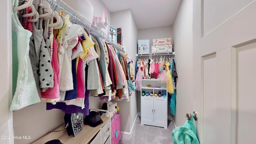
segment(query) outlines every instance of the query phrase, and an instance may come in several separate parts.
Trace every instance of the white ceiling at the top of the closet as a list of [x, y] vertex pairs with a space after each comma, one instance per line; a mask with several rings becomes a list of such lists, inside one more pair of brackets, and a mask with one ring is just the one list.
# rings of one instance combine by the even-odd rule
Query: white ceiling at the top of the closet
[[109, 12], [130, 9], [138, 29], [170, 26], [182, 0], [102, 0]]

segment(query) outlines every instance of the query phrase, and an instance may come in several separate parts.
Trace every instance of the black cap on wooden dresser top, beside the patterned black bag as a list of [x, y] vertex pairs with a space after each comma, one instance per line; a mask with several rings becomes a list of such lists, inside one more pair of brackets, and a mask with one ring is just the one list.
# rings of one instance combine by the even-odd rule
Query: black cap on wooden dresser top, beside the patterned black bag
[[89, 115], [85, 117], [84, 124], [89, 124], [91, 127], [96, 127], [102, 124], [103, 121], [100, 117], [99, 112], [90, 111]]

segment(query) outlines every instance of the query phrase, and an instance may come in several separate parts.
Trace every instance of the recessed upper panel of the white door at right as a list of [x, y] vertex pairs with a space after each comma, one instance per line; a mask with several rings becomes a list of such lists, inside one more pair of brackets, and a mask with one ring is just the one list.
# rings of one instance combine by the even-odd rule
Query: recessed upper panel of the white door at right
[[204, 0], [204, 35], [254, 0]]

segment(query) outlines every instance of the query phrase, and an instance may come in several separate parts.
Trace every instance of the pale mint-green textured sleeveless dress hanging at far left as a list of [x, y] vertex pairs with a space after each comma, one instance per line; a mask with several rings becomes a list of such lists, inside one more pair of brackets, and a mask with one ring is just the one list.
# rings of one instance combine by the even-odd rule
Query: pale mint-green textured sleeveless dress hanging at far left
[[[18, 1], [12, 0], [12, 6]], [[40, 102], [30, 63], [29, 40], [32, 33], [20, 25], [17, 12], [12, 12], [13, 99], [10, 110], [19, 110]]]

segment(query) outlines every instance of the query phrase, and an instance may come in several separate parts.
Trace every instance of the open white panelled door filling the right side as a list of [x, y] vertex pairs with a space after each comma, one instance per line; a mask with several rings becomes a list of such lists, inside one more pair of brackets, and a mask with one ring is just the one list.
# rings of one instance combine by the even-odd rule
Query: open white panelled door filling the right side
[[[194, 2], [195, 18], [202, 16], [200, 20], [204, 21], [205, 14], [209, 14], [209, 9], [204, 7], [208, 2]], [[214, 5], [216, 2], [225, 3], [220, 0], [211, 2], [212, 9], [218, 7]], [[236, 10], [234, 15], [224, 19], [207, 34], [199, 32], [199, 38], [193, 34], [193, 56], [196, 56], [193, 64], [198, 68], [193, 71], [199, 73], [196, 78], [201, 80], [200, 90], [194, 92], [197, 95], [194, 95], [193, 106], [198, 111], [196, 127], [201, 144], [256, 143], [256, 2], [229, 2], [230, 7]], [[234, 7], [235, 2], [245, 6]], [[200, 5], [198, 9], [195, 9], [196, 4]], [[220, 11], [228, 13], [224, 9]], [[202, 12], [195, 13], [198, 10]], [[193, 32], [204, 30], [209, 25], [195, 18]], [[201, 27], [196, 24], [201, 24]]]

